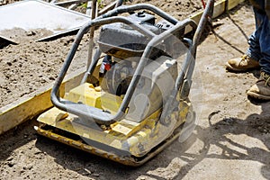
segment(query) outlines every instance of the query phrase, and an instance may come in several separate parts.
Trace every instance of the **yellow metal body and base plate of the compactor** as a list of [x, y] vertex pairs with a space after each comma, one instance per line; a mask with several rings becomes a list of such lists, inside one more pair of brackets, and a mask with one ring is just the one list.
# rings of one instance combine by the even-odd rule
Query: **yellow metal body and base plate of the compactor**
[[[94, 87], [88, 83], [70, 90], [65, 98], [74, 103], [85, 103], [113, 112], [121, 104], [121, 97], [104, 93], [100, 86]], [[38, 121], [41, 122], [40, 127], [35, 128], [41, 135], [50, 139], [56, 139], [101, 157], [111, 158], [125, 165], [139, 166], [146, 161], [145, 157], [154, 156], [148, 156], [148, 153], [154, 147], [158, 147], [164, 139], [171, 136], [174, 130], [185, 121], [186, 114], [190, 111], [190, 103], [182, 101], [179, 109], [181, 110], [179, 114], [175, 114], [177, 120], [174, 120], [174, 123], [169, 126], [162, 125], [158, 121], [161, 109], [140, 122], [123, 119], [110, 126], [105, 126], [82, 120], [74, 114], [53, 107], [40, 115], [38, 118]], [[43, 128], [45, 125], [49, 126], [49, 129]], [[54, 132], [55, 130], [57, 132]], [[63, 130], [79, 138], [67, 138], [58, 133], [58, 130]]]

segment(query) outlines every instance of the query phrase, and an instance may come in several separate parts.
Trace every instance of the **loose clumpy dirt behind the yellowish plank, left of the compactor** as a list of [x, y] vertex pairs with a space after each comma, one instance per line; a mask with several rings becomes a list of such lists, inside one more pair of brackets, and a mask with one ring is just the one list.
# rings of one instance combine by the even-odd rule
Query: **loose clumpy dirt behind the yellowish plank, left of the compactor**
[[[13, 33], [16, 31], [16, 33]], [[31, 94], [42, 86], [54, 82], [67, 52], [75, 39], [74, 35], [57, 40], [37, 42], [46, 30], [4, 31], [4, 35], [19, 42], [18, 45], [8, 45], [0, 49], [0, 108], [14, 102], [25, 95]], [[82, 48], [76, 53], [76, 63], [71, 71], [84, 67], [87, 57], [87, 36], [82, 42]]]

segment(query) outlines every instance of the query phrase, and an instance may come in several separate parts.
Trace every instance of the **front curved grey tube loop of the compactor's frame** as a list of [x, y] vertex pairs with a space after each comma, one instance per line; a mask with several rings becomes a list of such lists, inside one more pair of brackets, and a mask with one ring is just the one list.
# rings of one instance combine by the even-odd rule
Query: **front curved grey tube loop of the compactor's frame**
[[[192, 20], [188, 19], [188, 20], [185, 20], [183, 22], [177, 23], [172, 29], [170, 29], [168, 31], [164, 31], [163, 33], [161, 33], [157, 36], [154, 36], [153, 39], [148, 42], [148, 45], [147, 45], [146, 49], [144, 50], [142, 57], [139, 60], [139, 65], [135, 70], [134, 76], [131, 79], [127, 93], [124, 96], [124, 99], [121, 103], [121, 106], [120, 106], [118, 112], [115, 115], [109, 114], [107, 112], [103, 112], [100, 109], [97, 109], [97, 108], [94, 108], [94, 107], [91, 107], [91, 106], [88, 106], [85, 104], [72, 103], [72, 102], [69, 102], [67, 100], [59, 98], [59, 96], [58, 96], [59, 86], [61, 85], [63, 78], [67, 73], [67, 69], [70, 66], [72, 59], [74, 58], [78, 44], [79, 44], [80, 40], [82, 39], [85, 31], [87, 31], [87, 29], [89, 29], [93, 25], [98, 26], [98, 25], [102, 25], [103, 23], [109, 23], [108, 21], [113, 20], [113, 19], [115, 19], [115, 18], [94, 20], [94, 21], [86, 24], [84, 26], [84, 28], [82, 28], [78, 32], [78, 34], [76, 36], [76, 40], [73, 43], [72, 49], [69, 51], [69, 53], [67, 55], [67, 59], [62, 67], [62, 70], [61, 70], [61, 72], [56, 80], [56, 83], [52, 88], [52, 92], [51, 92], [51, 101], [59, 109], [74, 113], [74, 114], [79, 115], [79, 116], [83, 116], [87, 119], [93, 118], [94, 121], [96, 121], [98, 123], [103, 123], [103, 124], [111, 124], [113, 121], [119, 121], [125, 115], [124, 112], [126, 112], [126, 109], [128, 107], [128, 104], [130, 103], [130, 99], [132, 97], [132, 94], [134, 93], [136, 85], [139, 82], [139, 77], [140, 77], [144, 67], [147, 64], [147, 60], [148, 60], [148, 57], [150, 55], [151, 49], [158, 42], [161, 42], [162, 40], [166, 39], [169, 35], [173, 34], [175, 31], [182, 30], [188, 24], [191, 25], [193, 28], [196, 28], [196, 24]], [[122, 20], [122, 22], [126, 22], [125, 18], [121, 18], [119, 20]], [[130, 22], [130, 21], [128, 21], [128, 22]]]

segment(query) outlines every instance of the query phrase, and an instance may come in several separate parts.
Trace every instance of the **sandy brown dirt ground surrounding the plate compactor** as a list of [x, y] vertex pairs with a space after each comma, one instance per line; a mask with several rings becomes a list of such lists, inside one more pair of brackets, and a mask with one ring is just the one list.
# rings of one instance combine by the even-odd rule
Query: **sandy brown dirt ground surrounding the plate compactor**
[[[177, 11], [172, 7], [175, 8], [173, 3], [168, 13]], [[197, 49], [193, 78], [194, 82], [202, 81], [202, 88], [194, 84], [193, 89], [202, 89], [202, 101], [193, 101], [197, 126], [184, 143], [175, 140], [147, 164], [134, 168], [40, 137], [32, 128], [36, 123], [32, 120], [0, 136], [0, 179], [270, 179], [270, 103], [247, 99], [246, 94], [259, 71], [234, 74], [224, 68], [229, 58], [240, 57], [247, 49], [247, 37], [255, 28], [251, 7], [247, 3], [238, 5], [215, 19], [213, 27]], [[0, 70], [0, 85], [10, 90], [8, 93], [1, 89], [0, 104], [9, 103], [9, 98], [18, 92], [23, 96], [23, 92], [29, 94], [52, 82], [72, 40], [74, 36], [41, 45], [31, 42], [31, 49], [18, 48], [29, 46], [24, 42], [17, 49], [13, 45], [0, 49], [0, 68], [4, 67]], [[48, 49], [42, 52], [44, 46]], [[34, 48], [33, 54], [40, 58], [40, 64], [35, 64], [38, 60], [33, 61], [34, 55], [29, 55]], [[14, 61], [13, 53], [26, 57], [18, 56]], [[25, 72], [27, 69], [32, 74], [32, 86], [25, 85], [23, 80], [30, 75]], [[9, 81], [11, 78], [14, 81]], [[46, 81], [43, 84], [42, 78]], [[27, 86], [26, 90], [17, 89], [21, 86]], [[18, 91], [14, 92], [12, 87]]]

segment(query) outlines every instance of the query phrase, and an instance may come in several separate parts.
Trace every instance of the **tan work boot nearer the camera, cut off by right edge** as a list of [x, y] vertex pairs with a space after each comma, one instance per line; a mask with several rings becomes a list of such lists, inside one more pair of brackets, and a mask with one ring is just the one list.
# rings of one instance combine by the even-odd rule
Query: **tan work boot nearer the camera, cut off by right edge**
[[247, 95], [256, 99], [270, 101], [270, 76], [265, 72], [261, 72], [259, 80], [247, 91]]

